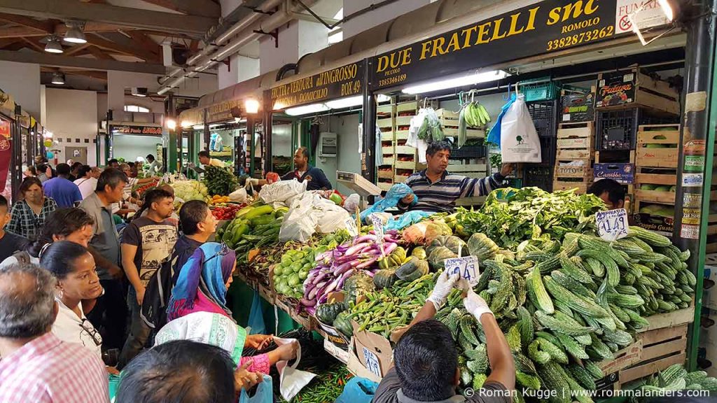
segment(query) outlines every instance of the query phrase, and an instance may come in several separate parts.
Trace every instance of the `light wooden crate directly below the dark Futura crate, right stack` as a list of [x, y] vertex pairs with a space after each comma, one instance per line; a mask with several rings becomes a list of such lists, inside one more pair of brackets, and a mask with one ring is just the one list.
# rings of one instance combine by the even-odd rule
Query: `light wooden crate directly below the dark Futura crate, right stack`
[[[637, 131], [635, 166], [677, 169], [679, 143], [680, 125], [678, 124], [641, 125]], [[663, 145], [668, 148], [650, 148], [650, 145]]]

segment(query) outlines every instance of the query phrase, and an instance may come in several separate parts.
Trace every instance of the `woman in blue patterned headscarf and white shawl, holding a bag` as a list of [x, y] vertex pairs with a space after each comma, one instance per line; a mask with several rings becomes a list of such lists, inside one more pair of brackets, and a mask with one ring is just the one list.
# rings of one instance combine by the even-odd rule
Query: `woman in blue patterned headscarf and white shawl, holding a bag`
[[[227, 308], [226, 296], [237, 268], [237, 255], [224, 244], [207, 242], [198, 247], [181, 268], [167, 310], [169, 321], [155, 338], [156, 344], [194, 340], [214, 344], [232, 354], [237, 364], [237, 386], [249, 389], [270, 366], [296, 357], [298, 345], [285, 344], [267, 354], [242, 357], [244, 348], [265, 349], [272, 336], [247, 335]], [[247, 366], [248, 364], [248, 366]]]

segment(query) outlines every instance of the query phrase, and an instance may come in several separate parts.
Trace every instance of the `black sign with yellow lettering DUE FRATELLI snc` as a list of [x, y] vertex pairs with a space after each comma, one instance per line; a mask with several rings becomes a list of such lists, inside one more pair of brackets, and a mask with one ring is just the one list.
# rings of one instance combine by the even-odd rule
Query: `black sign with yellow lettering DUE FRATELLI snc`
[[369, 89], [395, 87], [611, 39], [617, 0], [546, 0], [371, 58]]

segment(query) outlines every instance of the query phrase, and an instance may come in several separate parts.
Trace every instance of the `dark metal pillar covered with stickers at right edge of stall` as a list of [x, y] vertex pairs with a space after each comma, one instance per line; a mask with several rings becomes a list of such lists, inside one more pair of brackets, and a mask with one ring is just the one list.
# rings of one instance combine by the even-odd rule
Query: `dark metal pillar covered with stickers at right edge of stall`
[[[688, 261], [695, 273], [695, 321], [690, 325], [688, 367], [697, 364], [700, 318], [702, 311], [703, 272], [707, 222], [712, 185], [717, 95], [713, 91], [715, 62], [715, 14], [713, 0], [695, 9], [686, 9], [686, 16], [695, 16], [686, 23], [685, 99], [680, 136], [678, 186], [675, 203], [675, 243], [691, 252]], [[708, 11], [708, 12], [705, 12]], [[687, 15], [689, 13], [689, 15]]]

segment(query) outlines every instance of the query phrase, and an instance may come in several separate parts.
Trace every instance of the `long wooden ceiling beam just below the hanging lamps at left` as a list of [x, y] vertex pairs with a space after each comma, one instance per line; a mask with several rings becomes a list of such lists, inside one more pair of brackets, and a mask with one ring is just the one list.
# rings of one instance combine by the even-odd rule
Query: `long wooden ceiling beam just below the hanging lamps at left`
[[0, 50], [0, 60], [53, 67], [77, 67], [86, 70], [118, 70], [156, 75], [166, 73], [166, 67], [163, 65], [120, 62], [118, 60], [93, 60], [88, 57], [67, 57], [47, 53], [11, 52], [9, 50]]

